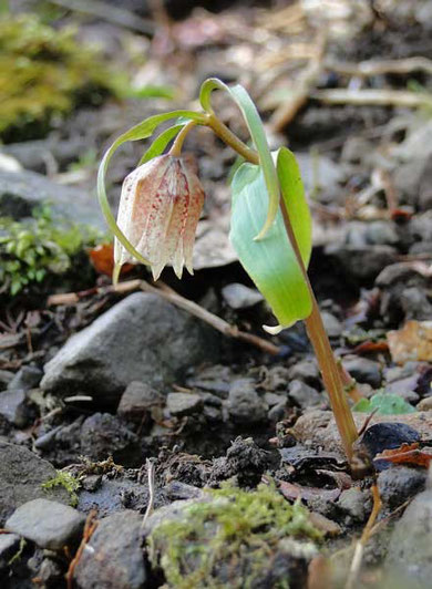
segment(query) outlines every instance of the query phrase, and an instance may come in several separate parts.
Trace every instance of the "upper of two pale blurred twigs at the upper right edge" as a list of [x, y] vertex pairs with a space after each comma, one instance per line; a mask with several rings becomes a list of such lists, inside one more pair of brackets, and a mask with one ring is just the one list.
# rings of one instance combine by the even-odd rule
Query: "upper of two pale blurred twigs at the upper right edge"
[[411, 73], [423, 71], [432, 74], [432, 61], [428, 58], [408, 58], [405, 60], [367, 60], [359, 63], [343, 63], [332, 60], [326, 60], [323, 63], [326, 70], [346, 75], [381, 75], [387, 73]]

